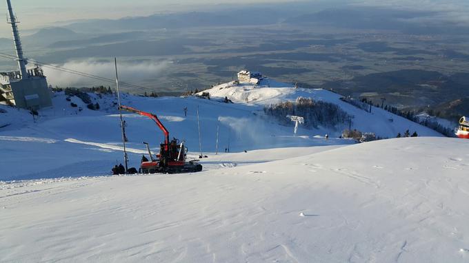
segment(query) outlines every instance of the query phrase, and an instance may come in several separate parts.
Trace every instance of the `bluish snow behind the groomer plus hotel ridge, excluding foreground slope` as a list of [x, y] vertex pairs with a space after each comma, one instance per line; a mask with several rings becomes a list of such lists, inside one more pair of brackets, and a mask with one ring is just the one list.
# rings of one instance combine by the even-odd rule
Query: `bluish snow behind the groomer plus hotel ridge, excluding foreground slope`
[[[211, 100], [193, 96], [150, 98], [128, 94], [123, 94], [122, 100], [123, 105], [161, 116], [170, 136], [186, 140], [191, 156], [199, 156], [197, 107], [202, 151], [210, 157], [217, 151], [218, 126], [219, 153], [353, 143], [339, 139], [341, 131], [348, 128], [348, 122], [332, 128], [319, 125], [317, 129], [300, 125], [297, 136], [294, 136], [294, 123], [281, 125], [263, 112], [271, 103], [296, 101], [300, 96], [338, 105], [343, 112], [355, 116], [352, 129], [371, 131], [381, 138], [394, 138], [407, 129], [417, 131], [419, 136], [441, 136], [382, 109], [365, 112], [326, 90], [306, 90], [269, 79], [263, 81], [261, 85], [226, 83], [213, 87], [206, 91], [210, 92]], [[110, 167], [122, 159], [117, 100], [111, 94], [90, 93], [86, 97], [90, 101], [84, 103], [77, 96], [57, 92], [53, 98], [54, 107], [41, 110], [34, 118], [23, 109], [0, 105], [4, 111], [0, 113], [0, 158], [8, 164], [2, 166], [0, 180], [108, 175]], [[223, 103], [225, 97], [234, 103]], [[90, 103], [99, 104], [99, 110], [89, 109]], [[150, 143], [155, 150], [163, 135], [146, 118], [135, 114], [125, 114], [124, 118], [128, 126], [130, 167], [139, 167], [141, 155], [146, 153], [142, 142]], [[328, 140], [324, 138], [326, 134]], [[24, 160], [28, 160], [28, 165], [24, 165]], [[206, 167], [211, 169], [210, 165]]]

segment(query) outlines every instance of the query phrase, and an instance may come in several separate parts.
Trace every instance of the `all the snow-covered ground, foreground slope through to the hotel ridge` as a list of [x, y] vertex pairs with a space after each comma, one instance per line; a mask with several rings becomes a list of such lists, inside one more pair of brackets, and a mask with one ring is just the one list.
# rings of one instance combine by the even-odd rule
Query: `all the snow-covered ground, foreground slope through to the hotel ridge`
[[[188, 174], [109, 176], [122, 158], [113, 97], [93, 96], [101, 112], [72, 97], [79, 112], [56, 94], [36, 123], [1, 106], [0, 262], [469, 261], [468, 140], [324, 90], [269, 85], [220, 85], [210, 101], [123, 96], [186, 139], [190, 158], [199, 107], [209, 158]], [[293, 136], [293, 124], [263, 116], [264, 105], [297, 96], [336, 103], [361, 131], [428, 137], [352, 145], [337, 138], [343, 127]], [[147, 118], [124, 118], [138, 167], [141, 142], [155, 149], [163, 136]]]

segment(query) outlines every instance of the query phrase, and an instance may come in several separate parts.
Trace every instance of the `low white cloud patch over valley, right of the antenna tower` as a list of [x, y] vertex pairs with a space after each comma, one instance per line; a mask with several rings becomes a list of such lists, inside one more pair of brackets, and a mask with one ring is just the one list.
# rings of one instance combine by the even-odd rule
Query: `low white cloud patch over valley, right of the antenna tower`
[[[115, 78], [114, 61], [88, 59], [85, 61], [68, 61], [57, 66], [104, 78]], [[137, 85], [157, 78], [162, 72], [166, 72], [169, 66], [170, 61], [121, 61], [117, 64], [119, 80]], [[43, 67], [43, 70], [48, 77], [48, 83], [53, 86], [90, 87], [93, 85], [113, 85], [113, 83], [55, 70], [51, 67]]]

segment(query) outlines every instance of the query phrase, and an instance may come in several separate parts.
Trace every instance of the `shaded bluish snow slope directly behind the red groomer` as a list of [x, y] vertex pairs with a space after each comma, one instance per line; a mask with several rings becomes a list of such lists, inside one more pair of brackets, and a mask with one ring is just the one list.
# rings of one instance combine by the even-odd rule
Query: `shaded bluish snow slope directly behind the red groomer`
[[[5, 165], [0, 180], [25, 180], [101, 176], [122, 160], [119, 115], [113, 106], [113, 96], [94, 98], [101, 111], [86, 108], [78, 98], [73, 103], [82, 107], [70, 107], [63, 93], [54, 97], [54, 108], [40, 112], [32, 122], [32, 115], [25, 110], [4, 107], [0, 120], [10, 125], [0, 129], [0, 158]], [[304, 130], [293, 136], [292, 127], [269, 123], [255, 115], [256, 107], [243, 104], [226, 105], [199, 98], [143, 98], [123, 96], [123, 104], [154, 112], [170, 131], [170, 136], [185, 139], [191, 156], [199, 154], [197, 133], [197, 107], [199, 107], [202, 151], [214, 156], [217, 125], [219, 123], [219, 151], [231, 152], [280, 147], [308, 147], [321, 145], [347, 145], [350, 140], [315, 138]], [[188, 107], [184, 116], [183, 108]], [[130, 166], [138, 167], [142, 154], [147, 151], [142, 141], [153, 149], [163, 140], [163, 134], [152, 120], [125, 114]], [[219, 121], [220, 120], [220, 121]], [[306, 150], [310, 151], [310, 150]], [[287, 152], [285, 156], [299, 156], [305, 152]], [[211, 161], [207, 160], [206, 167]], [[27, 164], [27, 165], [25, 165]]]

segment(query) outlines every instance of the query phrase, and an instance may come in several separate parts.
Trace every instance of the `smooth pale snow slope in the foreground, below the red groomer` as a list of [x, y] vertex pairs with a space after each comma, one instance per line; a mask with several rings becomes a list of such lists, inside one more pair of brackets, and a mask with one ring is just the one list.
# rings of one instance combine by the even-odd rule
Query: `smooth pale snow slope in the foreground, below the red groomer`
[[399, 138], [186, 175], [3, 182], [0, 261], [468, 262], [468, 146]]

